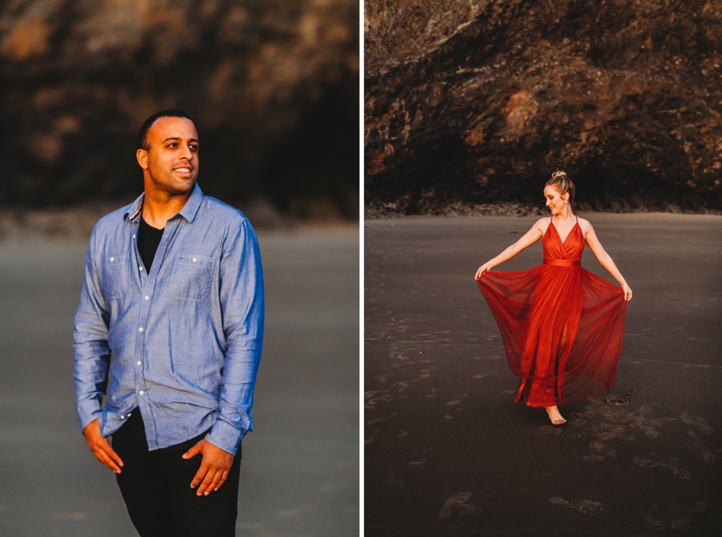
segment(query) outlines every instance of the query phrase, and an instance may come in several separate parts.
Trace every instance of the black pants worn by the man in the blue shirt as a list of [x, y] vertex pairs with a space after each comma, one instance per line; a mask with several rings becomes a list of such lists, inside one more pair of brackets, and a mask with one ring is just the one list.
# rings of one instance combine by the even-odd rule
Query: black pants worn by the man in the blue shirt
[[233, 537], [238, 517], [240, 446], [225, 483], [197, 496], [191, 481], [201, 455], [181, 458], [199, 437], [160, 450], [148, 450], [139, 409], [113, 434], [113, 449], [123, 460], [116, 476], [131, 522], [142, 537]]

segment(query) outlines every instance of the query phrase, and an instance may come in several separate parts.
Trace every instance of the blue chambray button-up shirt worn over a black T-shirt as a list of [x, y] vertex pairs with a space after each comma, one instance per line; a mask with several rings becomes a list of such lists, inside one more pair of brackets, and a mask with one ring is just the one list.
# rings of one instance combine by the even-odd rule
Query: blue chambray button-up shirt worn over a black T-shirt
[[108, 437], [139, 407], [149, 450], [210, 429], [206, 440], [235, 455], [253, 430], [264, 332], [256, 234], [196, 185], [146, 274], [142, 203], [103, 217], [90, 237], [73, 346], [80, 427], [99, 418]]

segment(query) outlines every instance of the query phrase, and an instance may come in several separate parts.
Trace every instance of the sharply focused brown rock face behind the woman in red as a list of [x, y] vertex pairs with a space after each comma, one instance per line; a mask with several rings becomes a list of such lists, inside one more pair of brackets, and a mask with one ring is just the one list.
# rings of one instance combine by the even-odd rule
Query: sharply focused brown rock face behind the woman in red
[[367, 207], [720, 211], [721, 51], [720, 0], [368, 0]]

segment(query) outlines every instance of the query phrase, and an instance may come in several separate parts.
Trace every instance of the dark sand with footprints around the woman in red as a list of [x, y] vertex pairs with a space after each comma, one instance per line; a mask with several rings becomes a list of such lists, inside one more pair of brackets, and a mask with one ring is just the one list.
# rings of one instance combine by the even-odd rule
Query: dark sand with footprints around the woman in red
[[474, 281], [535, 217], [365, 222], [366, 535], [722, 535], [722, 217], [583, 216], [635, 296], [617, 387], [564, 427], [513, 403]]

